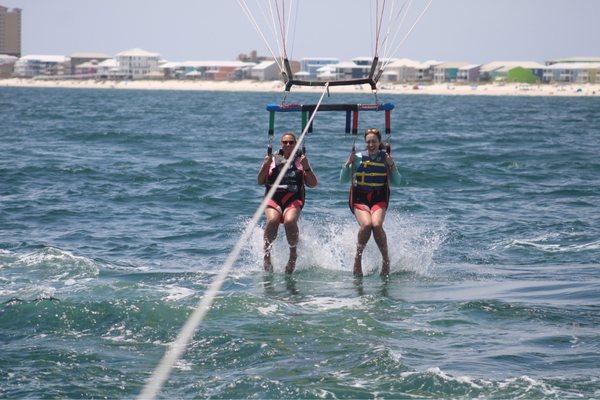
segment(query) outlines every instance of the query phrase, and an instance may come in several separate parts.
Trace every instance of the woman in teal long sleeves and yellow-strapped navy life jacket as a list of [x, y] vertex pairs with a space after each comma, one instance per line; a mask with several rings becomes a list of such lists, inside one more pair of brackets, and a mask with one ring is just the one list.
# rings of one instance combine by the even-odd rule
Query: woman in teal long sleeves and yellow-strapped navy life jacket
[[367, 148], [361, 153], [352, 150], [340, 172], [340, 182], [350, 182], [352, 172], [355, 178], [350, 191], [350, 209], [360, 229], [354, 257], [354, 275], [363, 274], [362, 253], [372, 232], [383, 258], [381, 275], [387, 276], [390, 273], [390, 257], [383, 221], [389, 203], [389, 186], [400, 184], [400, 173], [392, 156], [382, 149], [378, 129], [370, 128], [365, 131], [365, 144]]

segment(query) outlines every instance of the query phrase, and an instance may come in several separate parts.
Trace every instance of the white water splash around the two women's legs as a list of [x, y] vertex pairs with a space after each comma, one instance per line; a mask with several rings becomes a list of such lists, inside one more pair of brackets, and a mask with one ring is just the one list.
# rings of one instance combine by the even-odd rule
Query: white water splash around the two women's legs
[[[330, 271], [351, 272], [356, 252], [358, 224], [352, 216], [344, 219], [300, 218], [300, 242], [296, 270], [322, 268]], [[392, 273], [411, 271], [421, 275], [430, 273], [433, 256], [444, 240], [441, 227], [431, 227], [418, 219], [391, 211], [386, 216], [385, 231]], [[254, 229], [252, 239], [246, 246], [246, 273], [262, 269], [263, 229]], [[273, 244], [272, 260], [276, 272], [282, 272], [289, 254], [285, 229], [280, 225], [277, 240]], [[381, 268], [381, 254], [373, 237], [363, 253], [363, 271], [372, 274]]]

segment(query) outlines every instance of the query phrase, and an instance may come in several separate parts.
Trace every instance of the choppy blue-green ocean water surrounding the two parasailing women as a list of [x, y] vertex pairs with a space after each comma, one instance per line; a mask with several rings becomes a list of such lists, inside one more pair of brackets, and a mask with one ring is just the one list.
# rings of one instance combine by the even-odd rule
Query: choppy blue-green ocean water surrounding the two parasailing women
[[[352, 137], [318, 114], [297, 272], [282, 231], [262, 272], [261, 222], [161, 396], [599, 398], [600, 100], [380, 97], [392, 275], [371, 241], [352, 276]], [[0, 398], [140, 392], [260, 203], [280, 99], [0, 89]]]

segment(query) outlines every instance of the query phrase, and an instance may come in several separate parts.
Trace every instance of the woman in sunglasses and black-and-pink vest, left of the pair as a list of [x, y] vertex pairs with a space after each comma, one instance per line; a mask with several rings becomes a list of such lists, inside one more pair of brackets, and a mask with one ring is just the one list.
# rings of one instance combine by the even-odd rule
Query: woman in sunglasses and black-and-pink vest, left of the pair
[[266, 155], [263, 164], [258, 172], [258, 184], [265, 185], [265, 195], [275, 182], [279, 171], [290, 158], [294, 161], [287, 170], [283, 180], [279, 184], [273, 198], [267, 203], [265, 216], [265, 271], [272, 272], [271, 247], [277, 238], [279, 224], [283, 223], [288, 244], [290, 246], [290, 256], [285, 267], [285, 272], [291, 274], [296, 268], [296, 246], [298, 245], [298, 218], [300, 211], [304, 206], [304, 185], [308, 187], [317, 186], [317, 177], [310, 168], [308, 158], [305, 155], [292, 155], [292, 150], [296, 145], [296, 136], [292, 132], [286, 132], [281, 136], [281, 149], [279, 154], [272, 156]]

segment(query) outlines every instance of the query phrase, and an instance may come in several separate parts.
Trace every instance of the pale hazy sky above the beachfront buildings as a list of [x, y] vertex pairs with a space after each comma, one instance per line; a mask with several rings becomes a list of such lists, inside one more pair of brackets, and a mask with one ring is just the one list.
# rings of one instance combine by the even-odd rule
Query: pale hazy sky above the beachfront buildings
[[[246, 1], [262, 19], [257, 0]], [[297, 2], [294, 58], [372, 55], [374, 0]], [[0, 0], [0, 5], [23, 9], [23, 54], [114, 55], [133, 47], [172, 61], [231, 60], [252, 49], [269, 54], [236, 0]], [[424, 5], [413, 0], [405, 30]], [[261, 27], [274, 43], [269, 26]], [[600, 0], [433, 0], [395, 56], [473, 63], [598, 57]]]

